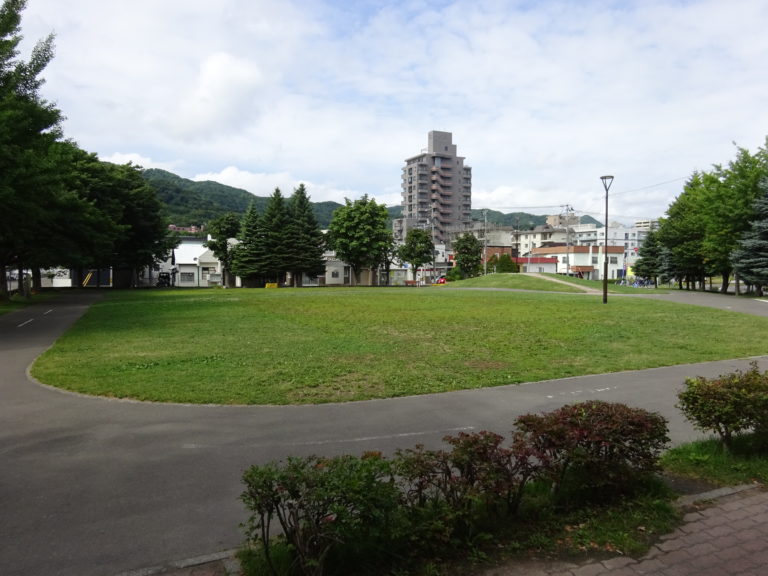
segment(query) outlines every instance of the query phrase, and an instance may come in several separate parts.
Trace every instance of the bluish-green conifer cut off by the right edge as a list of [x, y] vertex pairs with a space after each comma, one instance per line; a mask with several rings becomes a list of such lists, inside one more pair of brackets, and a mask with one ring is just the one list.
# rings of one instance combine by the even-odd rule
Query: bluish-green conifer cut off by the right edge
[[731, 261], [741, 279], [755, 287], [758, 296], [768, 286], [768, 179], [760, 182], [762, 196], [754, 202], [756, 219], [742, 235]]

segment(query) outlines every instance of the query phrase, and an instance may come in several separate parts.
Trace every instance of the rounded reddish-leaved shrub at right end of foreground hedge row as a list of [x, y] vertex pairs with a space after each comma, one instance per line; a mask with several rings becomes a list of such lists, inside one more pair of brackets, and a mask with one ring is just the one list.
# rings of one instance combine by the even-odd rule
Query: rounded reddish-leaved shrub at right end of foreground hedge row
[[659, 414], [623, 404], [590, 401], [515, 422], [515, 441], [532, 450], [539, 474], [554, 491], [575, 495], [623, 493], [658, 469], [669, 442]]

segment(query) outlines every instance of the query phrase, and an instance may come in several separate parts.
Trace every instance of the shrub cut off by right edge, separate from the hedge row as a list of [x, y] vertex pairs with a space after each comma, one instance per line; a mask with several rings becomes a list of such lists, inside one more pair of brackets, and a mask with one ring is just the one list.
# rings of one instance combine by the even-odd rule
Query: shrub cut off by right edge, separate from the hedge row
[[752, 362], [746, 372], [688, 378], [677, 407], [699, 430], [715, 432], [726, 448], [737, 434], [768, 432], [768, 372]]

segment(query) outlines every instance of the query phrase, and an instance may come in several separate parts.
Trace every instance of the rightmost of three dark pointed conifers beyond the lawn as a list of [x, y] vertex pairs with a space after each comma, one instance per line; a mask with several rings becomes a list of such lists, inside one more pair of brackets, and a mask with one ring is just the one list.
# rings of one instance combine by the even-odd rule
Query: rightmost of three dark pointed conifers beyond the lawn
[[289, 255], [286, 269], [291, 272], [293, 285], [302, 285], [304, 274], [310, 277], [325, 272], [325, 238], [317, 224], [312, 204], [304, 184], [299, 184], [288, 202]]

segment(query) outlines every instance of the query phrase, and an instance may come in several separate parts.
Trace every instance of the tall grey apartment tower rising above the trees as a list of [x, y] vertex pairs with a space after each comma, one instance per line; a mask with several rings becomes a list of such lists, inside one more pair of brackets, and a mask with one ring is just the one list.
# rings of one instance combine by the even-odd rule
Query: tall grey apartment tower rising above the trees
[[471, 225], [472, 168], [456, 154], [450, 132], [431, 131], [427, 148], [405, 161], [402, 197], [403, 216], [393, 223], [396, 241], [423, 228], [435, 244], [444, 244], [448, 228]]

